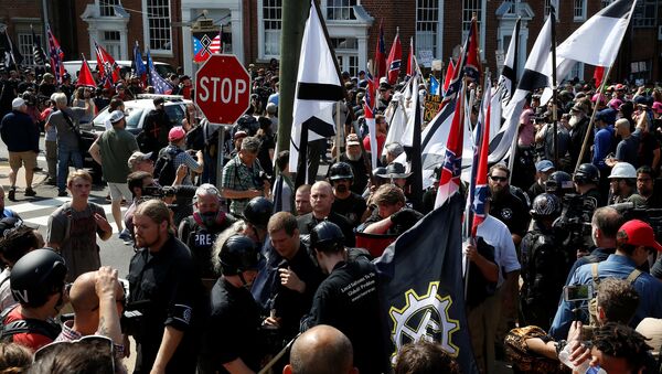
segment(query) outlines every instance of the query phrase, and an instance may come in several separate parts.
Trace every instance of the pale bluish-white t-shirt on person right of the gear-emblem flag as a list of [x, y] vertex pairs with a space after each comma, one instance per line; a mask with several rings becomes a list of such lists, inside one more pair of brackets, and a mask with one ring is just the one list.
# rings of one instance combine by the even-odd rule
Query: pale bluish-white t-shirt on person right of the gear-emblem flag
[[508, 226], [491, 215], [485, 217], [476, 232], [476, 236], [482, 236], [483, 241], [494, 247], [494, 263], [499, 266], [499, 281], [496, 287], [503, 284], [503, 275], [520, 270], [515, 244]]

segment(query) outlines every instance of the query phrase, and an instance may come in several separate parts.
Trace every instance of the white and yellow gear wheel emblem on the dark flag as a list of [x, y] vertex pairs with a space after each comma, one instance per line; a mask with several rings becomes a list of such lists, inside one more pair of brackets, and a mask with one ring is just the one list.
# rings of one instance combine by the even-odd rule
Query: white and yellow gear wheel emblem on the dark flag
[[423, 296], [410, 289], [405, 292], [406, 304], [402, 309], [391, 307], [388, 310], [393, 320], [391, 339], [395, 345], [392, 364], [405, 344], [423, 339], [439, 342], [448, 354], [458, 355], [459, 348], [452, 343], [451, 335], [460, 329], [460, 323], [448, 316], [452, 299], [449, 295], [441, 297], [438, 290], [438, 281], [430, 282]]

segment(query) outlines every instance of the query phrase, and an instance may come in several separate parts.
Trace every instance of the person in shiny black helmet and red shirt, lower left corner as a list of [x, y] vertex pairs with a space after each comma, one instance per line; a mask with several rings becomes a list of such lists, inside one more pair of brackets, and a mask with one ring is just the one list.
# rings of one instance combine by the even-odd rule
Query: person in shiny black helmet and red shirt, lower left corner
[[[0, 314], [2, 342], [33, 351], [51, 343], [61, 328], [53, 320], [65, 302], [64, 258], [52, 249], [35, 249], [21, 257], [10, 275], [11, 293], [19, 303]], [[26, 325], [26, 329], [20, 329]]]

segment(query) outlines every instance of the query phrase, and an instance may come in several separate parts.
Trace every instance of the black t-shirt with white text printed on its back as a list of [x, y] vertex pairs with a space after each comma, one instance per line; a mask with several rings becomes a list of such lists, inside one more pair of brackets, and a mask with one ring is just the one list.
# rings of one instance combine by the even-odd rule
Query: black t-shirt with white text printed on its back
[[342, 331], [354, 348], [354, 365], [361, 373], [382, 373], [387, 362], [382, 339], [377, 298], [377, 274], [372, 263], [357, 259], [335, 265], [320, 285], [310, 314], [309, 329], [329, 324]]

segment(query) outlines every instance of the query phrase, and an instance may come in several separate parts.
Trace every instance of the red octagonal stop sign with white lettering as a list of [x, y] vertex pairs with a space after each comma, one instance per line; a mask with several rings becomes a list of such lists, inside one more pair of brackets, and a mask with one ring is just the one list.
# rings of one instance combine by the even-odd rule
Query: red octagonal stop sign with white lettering
[[212, 124], [234, 124], [250, 105], [250, 76], [232, 54], [212, 55], [195, 74], [195, 103]]

